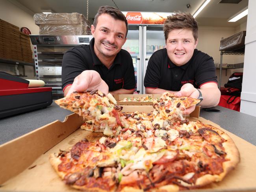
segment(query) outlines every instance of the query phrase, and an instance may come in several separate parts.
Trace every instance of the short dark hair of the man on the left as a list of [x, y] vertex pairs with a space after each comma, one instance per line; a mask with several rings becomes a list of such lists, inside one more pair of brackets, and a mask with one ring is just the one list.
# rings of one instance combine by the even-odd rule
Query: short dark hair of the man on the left
[[111, 7], [111, 6], [101, 6], [99, 9], [98, 9], [98, 12], [96, 13], [95, 17], [94, 17], [94, 21], [93, 21], [93, 26], [96, 28], [96, 25], [98, 23], [98, 17], [101, 15], [101, 14], [108, 14], [110, 15], [111, 17], [115, 18], [116, 20], [121, 20], [121, 21], [124, 21], [125, 22], [125, 25], [126, 25], [126, 34], [125, 34], [125, 37], [127, 36], [127, 33], [128, 33], [128, 22], [126, 20], [126, 17], [124, 16], [124, 14], [117, 8], [115, 7]]

